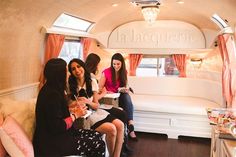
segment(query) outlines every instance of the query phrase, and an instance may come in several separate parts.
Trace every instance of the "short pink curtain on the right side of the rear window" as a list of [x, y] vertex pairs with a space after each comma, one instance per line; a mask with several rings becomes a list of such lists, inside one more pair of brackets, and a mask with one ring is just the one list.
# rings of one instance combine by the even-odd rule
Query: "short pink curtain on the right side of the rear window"
[[186, 77], [186, 55], [185, 54], [175, 54], [172, 56], [175, 66], [179, 70], [179, 77]]

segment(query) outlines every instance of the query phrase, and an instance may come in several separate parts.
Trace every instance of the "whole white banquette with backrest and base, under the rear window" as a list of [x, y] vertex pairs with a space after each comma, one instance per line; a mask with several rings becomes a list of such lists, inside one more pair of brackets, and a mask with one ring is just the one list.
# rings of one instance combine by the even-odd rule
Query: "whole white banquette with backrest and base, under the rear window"
[[178, 77], [129, 77], [134, 94], [135, 130], [178, 136], [210, 137], [206, 108], [224, 101], [219, 82]]

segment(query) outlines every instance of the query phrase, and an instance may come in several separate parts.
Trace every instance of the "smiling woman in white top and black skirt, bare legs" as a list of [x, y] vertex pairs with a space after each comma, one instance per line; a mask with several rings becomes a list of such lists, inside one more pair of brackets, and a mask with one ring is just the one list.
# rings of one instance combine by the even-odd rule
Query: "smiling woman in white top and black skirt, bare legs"
[[106, 134], [110, 157], [120, 157], [124, 124], [107, 111], [100, 109], [97, 81], [91, 78], [82, 60], [72, 59], [68, 69], [71, 74], [69, 77], [71, 98], [84, 102], [88, 106], [92, 114], [86, 119], [86, 123], [90, 124], [91, 129]]

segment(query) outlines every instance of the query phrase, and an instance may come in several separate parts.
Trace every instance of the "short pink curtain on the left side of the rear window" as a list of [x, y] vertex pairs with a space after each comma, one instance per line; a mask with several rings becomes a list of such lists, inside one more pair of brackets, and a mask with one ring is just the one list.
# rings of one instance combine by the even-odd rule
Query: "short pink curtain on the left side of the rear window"
[[136, 76], [136, 69], [143, 58], [142, 54], [129, 54], [129, 75]]

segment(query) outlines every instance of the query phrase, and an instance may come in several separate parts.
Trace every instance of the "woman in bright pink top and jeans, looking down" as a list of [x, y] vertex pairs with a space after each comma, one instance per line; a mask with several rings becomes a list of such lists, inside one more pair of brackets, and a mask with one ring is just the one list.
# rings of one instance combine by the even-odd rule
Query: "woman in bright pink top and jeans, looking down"
[[101, 80], [99, 81], [99, 89], [104, 87], [110, 93], [120, 92], [119, 106], [126, 111], [128, 116], [128, 129], [130, 139], [137, 141], [134, 132], [133, 121], [133, 103], [129, 95], [127, 70], [125, 60], [120, 53], [115, 53], [111, 58], [111, 65], [102, 72]]

